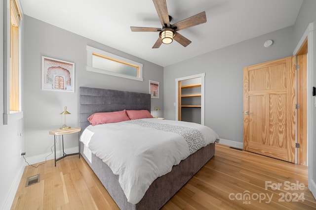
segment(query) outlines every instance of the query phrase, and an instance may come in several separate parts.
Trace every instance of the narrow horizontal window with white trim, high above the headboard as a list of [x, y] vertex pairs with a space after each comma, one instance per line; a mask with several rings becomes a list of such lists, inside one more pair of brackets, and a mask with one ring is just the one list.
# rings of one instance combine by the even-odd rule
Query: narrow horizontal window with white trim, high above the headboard
[[143, 64], [87, 46], [87, 71], [143, 81]]

